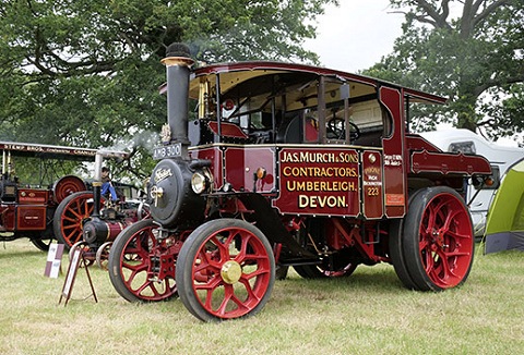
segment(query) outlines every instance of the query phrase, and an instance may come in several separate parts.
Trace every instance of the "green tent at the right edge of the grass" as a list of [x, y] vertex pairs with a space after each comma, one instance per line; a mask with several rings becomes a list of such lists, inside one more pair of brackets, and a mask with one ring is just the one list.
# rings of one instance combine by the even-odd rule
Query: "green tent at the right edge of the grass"
[[524, 159], [510, 167], [489, 207], [485, 254], [524, 252]]

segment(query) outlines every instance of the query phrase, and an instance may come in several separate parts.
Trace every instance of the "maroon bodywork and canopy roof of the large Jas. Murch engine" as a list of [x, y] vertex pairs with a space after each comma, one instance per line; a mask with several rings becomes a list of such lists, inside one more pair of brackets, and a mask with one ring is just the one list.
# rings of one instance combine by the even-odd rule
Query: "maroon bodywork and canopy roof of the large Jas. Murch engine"
[[[214, 143], [210, 146], [191, 147], [191, 158], [211, 161], [210, 170], [214, 178], [214, 191], [219, 191], [227, 183], [230, 184], [233, 192], [265, 194], [270, 198], [271, 206], [282, 215], [341, 216], [380, 220], [402, 218], [406, 215], [410, 178], [428, 179], [428, 174], [432, 173], [462, 176], [490, 172], [489, 163], [481, 157], [445, 154], [418, 135], [406, 134], [407, 100], [444, 103], [445, 98], [391, 85], [380, 79], [302, 64], [266, 61], [225, 63], [195, 69], [191, 74], [190, 95], [198, 96], [195, 94], [199, 85], [205, 81], [214, 83], [219, 78], [218, 87], [222, 90], [225, 93], [238, 90], [238, 95], [241, 96], [242, 90], [248, 93], [251, 90], [247, 85], [250, 79], [265, 83], [260, 82], [260, 78], [274, 73], [306, 75], [309, 79], [315, 77], [314, 75], [324, 78], [336, 77], [341, 82], [364, 85], [357, 90], [374, 88], [376, 99], [391, 118], [389, 135], [382, 137], [381, 145], [376, 150], [366, 146], [350, 145], [327, 148], [322, 143], [314, 143], [314, 140], [325, 142], [325, 127], [322, 128], [322, 125], [319, 125], [314, 133], [308, 133], [309, 125], [306, 122], [303, 123], [306, 145], [257, 146]], [[327, 82], [319, 79], [317, 85], [323, 87], [322, 85], [327, 85], [325, 84]], [[301, 85], [298, 90], [305, 90], [307, 87], [308, 85]], [[265, 88], [253, 86], [252, 89], [254, 94], [249, 95], [260, 95]], [[288, 90], [293, 91], [293, 89]], [[370, 91], [362, 91], [361, 97], [372, 100], [372, 94], [367, 93]], [[308, 95], [308, 98], [314, 97], [310, 93]], [[323, 100], [319, 97], [318, 105], [325, 106], [325, 98]], [[309, 101], [306, 99], [302, 102], [306, 106]], [[294, 107], [294, 109], [297, 108]], [[324, 109], [322, 113], [324, 117], [329, 115], [326, 111]], [[320, 114], [319, 112], [319, 117]], [[243, 143], [248, 143], [247, 131], [246, 128], [242, 131], [238, 123], [222, 121], [221, 130], [216, 121], [212, 120], [209, 125], [215, 134], [221, 132], [225, 137], [241, 138], [246, 139]], [[215, 142], [219, 139], [215, 138]], [[242, 143], [242, 140], [235, 142]], [[325, 161], [307, 158], [315, 155], [326, 155], [330, 158]], [[342, 162], [336, 160], [341, 155], [356, 158]], [[369, 160], [370, 156], [376, 157], [373, 162]], [[333, 159], [330, 160], [331, 158]], [[258, 168], [263, 168], [267, 172], [262, 180], [254, 179]], [[334, 169], [348, 169], [353, 174], [332, 176], [325, 173], [325, 169], [331, 172]], [[374, 174], [370, 174], [371, 171], [374, 171]], [[453, 181], [453, 186], [456, 187], [456, 185], [457, 182]]]

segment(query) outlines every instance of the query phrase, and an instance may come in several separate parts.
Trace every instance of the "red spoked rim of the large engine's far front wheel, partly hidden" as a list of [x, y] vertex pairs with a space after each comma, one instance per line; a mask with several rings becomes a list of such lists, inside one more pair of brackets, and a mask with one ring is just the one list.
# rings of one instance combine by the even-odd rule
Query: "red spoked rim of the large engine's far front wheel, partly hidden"
[[[133, 233], [119, 256], [121, 281], [126, 289], [142, 301], [164, 301], [177, 293], [176, 255], [156, 237], [157, 225]], [[176, 249], [179, 249], [176, 246]]]

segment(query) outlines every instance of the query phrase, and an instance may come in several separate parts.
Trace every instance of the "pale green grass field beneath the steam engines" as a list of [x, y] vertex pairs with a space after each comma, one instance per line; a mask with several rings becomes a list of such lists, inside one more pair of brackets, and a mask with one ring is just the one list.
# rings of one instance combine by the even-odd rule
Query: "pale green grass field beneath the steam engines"
[[[47, 254], [28, 240], [0, 248], [0, 354], [520, 354], [524, 254], [478, 252], [467, 282], [442, 293], [404, 289], [392, 266], [359, 266], [345, 280], [277, 281], [248, 319], [203, 323], [175, 299], [130, 304], [107, 271], [44, 277]], [[62, 259], [64, 268], [68, 259]], [[86, 298], [87, 297], [87, 298]]]

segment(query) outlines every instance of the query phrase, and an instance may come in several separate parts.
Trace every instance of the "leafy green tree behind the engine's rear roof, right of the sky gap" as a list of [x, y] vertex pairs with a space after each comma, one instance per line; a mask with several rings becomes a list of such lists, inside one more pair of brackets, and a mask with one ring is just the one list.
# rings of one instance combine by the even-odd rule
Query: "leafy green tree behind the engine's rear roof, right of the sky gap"
[[406, 16], [394, 52], [366, 73], [449, 97], [413, 111], [416, 130], [452, 122], [490, 136], [524, 127], [522, 0], [391, 0]]

